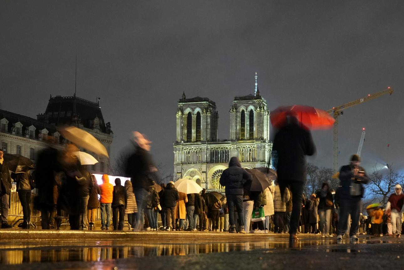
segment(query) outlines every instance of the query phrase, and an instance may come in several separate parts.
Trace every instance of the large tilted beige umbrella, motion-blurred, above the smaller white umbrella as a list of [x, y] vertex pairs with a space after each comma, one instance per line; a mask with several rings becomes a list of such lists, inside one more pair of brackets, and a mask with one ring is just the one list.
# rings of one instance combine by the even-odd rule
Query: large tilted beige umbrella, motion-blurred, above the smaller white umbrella
[[58, 131], [65, 139], [73, 142], [74, 144], [95, 154], [108, 157], [107, 149], [105, 149], [99, 140], [85, 130], [70, 126], [66, 128], [59, 128]]

